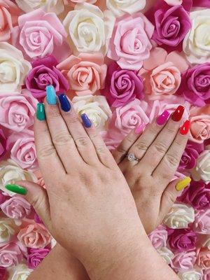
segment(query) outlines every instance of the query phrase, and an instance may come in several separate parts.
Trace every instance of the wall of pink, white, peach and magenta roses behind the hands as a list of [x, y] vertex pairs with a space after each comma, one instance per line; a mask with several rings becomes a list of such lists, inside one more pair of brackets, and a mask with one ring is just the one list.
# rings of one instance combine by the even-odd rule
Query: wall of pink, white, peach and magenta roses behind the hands
[[0, 0], [0, 279], [25, 280], [55, 241], [7, 183], [38, 181], [33, 116], [67, 92], [115, 149], [137, 125], [185, 106], [176, 177], [193, 179], [149, 235], [183, 280], [210, 279], [209, 0]]

